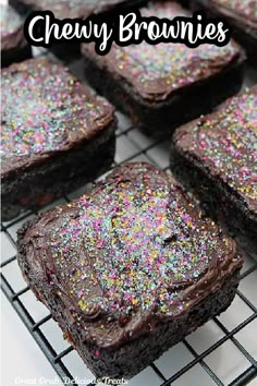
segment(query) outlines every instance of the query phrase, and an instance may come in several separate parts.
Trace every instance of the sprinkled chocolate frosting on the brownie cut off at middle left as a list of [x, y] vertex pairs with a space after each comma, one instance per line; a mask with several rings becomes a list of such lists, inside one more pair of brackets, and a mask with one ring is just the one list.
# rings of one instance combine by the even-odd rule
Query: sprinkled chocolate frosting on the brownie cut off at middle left
[[113, 108], [46, 58], [2, 71], [2, 176], [46, 161], [114, 122]]

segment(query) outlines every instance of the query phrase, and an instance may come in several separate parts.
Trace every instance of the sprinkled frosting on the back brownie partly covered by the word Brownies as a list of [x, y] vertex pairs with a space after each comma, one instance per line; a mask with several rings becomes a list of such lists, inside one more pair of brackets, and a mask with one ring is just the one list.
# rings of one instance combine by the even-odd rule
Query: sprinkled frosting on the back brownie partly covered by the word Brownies
[[[173, 1], [152, 2], [140, 12], [144, 16], [171, 20], [191, 15]], [[130, 85], [140, 97], [151, 101], [164, 100], [174, 92], [219, 73], [243, 56], [233, 40], [225, 47], [201, 45], [195, 49], [172, 43], [151, 46], [143, 41], [128, 47], [113, 44], [103, 57], [96, 55], [94, 44], [82, 47], [99, 68], [106, 68], [121, 84]]]

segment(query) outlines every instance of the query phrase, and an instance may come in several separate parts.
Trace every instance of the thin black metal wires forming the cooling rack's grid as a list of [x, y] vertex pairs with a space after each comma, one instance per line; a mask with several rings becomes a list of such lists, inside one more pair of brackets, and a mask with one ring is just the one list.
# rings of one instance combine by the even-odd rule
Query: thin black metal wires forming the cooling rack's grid
[[[136, 128], [130, 126], [125, 131], [119, 132], [117, 134], [117, 138], [122, 138], [123, 136], [127, 136], [130, 142], [134, 145], [136, 148], [135, 153], [127, 157], [126, 159], [122, 160], [120, 164], [124, 164], [126, 161], [133, 160], [134, 158], [138, 156], [145, 156], [147, 160], [151, 164], [156, 164], [155, 159], [148, 154], [149, 150], [154, 149], [157, 145], [160, 144], [160, 141], [155, 141], [150, 145], [142, 148], [135, 140], [133, 140], [133, 136], [128, 136], [133, 130]], [[119, 164], [119, 165], [120, 165]], [[117, 166], [118, 164], [114, 162], [113, 166]], [[163, 170], [166, 170], [164, 168]], [[93, 182], [94, 183], [94, 182]], [[66, 195], [63, 196], [63, 198], [69, 202], [69, 197]], [[15, 226], [17, 222], [26, 220], [32, 215], [36, 215], [35, 212], [27, 212], [23, 216], [20, 216], [17, 219], [14, 219], [8, 224], [1, 224], [1, 230], [4, 232], [7, 238], [10, 240], [13, 246], [16, 248], [15, 240], [13, 239], [10, 229], [11, 227]], [[28, 287], [24, 287], [20, 291], [14, 291], [11, 284], [9, 282], [7, 276], [4, 275], [4, 269], [5, 267], [10, 266], [11, 264], [17, 264], [16, 263], [16, 256], [9, 257], [7, 260], [3, 260], [3, 263], [1, 264], [2, 273], [1, 273], [1, 288], [12, 304], [13, 309], [16, 311], [19, 314], [21, 321], [23, 324], [26, 326], [28, 331], [32, 334], [33, 338], [36, 340], [38, 343], [39, 348], [41, 351], [45, 353], [46, 358], [52, 365], [52, 367], [56, 370], [57, 374], [60, 376], [62, 381], [65, 378], [65, 385], [70, 386], [78, 386], [74, 382], [74, 374], [71, 374], [69, 369], [64, 365], [63, 359], [69, 355], [72, 351], [73, 348], [70, 346], [65, 350], [57, 353], [56, 350], [53, 349], [51, 342], [46, 338], [44, 333], [41, 331], [41, 327], [45, 323], [47, 323], [49, 319], [51, 319], [51, 315], [48, 314], [47, 316], [42, 317], [40, 321], [35, 322], [33, 316], [29, 314], [28, 310], [26, 309], [24, 302], [23, 302], [23, 294], [29, 291]], [[247, 276], [253, 274], [254, 272], [257, 270], [257, 263], [254, 263], [253, 261], [253, 266], [247, 269], [244, 274], [241, 275], [241, 280], [245, 279]], [[250, 302], [249, 299], [247, 299], [240, 290], [237, 290], [237, 295], [241, 298], [241, 300], [252, 310], [252, 315], [247, 317], [245, 321], [243, 321], [241, 324], [238, 324], [236, 327], [234, 327], [232, 330], [228, 330], [228, 328], [221, 323], [220, 319], [217, 317], [213, 318], [213, 322], [217, 324], [217, 326], [222, 330], [224, 336], [216, 341], [212, 346], [210, 346], [207, 350], [198, 354], [193, 347], [188, 343], [188, 341], [185, 339], [183, 343], [185, 347], [189, 350], [191, 354], [194, 357], [194, 359], [187, 363], [184, 367], [182, 367], [179, 372], [175, 374], [172, 374], [169, 378], [167, 378], [160, 369], [156, 364], [151, 364], [151, 369], [154, 372], [157, 374], [157, 376], [160, 379], [160, 384], [157, 386], [169, 386], [169, 385], [174, 385], [175, 381], [179, 379], [183, 374], [188, 372], [192, 367], [195, 365], [199, 364], [205, 372], [210, 376], [210, 378], [219, 386], [223, 386], [224, 384], [222, 381], [219, 378], [219, 376], [208, 366], [208, 364], [205, 362], [205, 359], [212, 353], [216, 349], [218, 349], [221, 345], [223, 345], [227, 341], [233, 342], [234, 347], [237, 348], [237, 350], [244, 355], [244, 358], [248, 361], [249, 366], [246, 371], [244, 371], [242, 374], [240, 374], [229, 386], [245, 386], [247, 385], [250, 381], [253, 381], [255, 377], [257, 377], [257, 363], [256, 360], [250, 355], [250, 353], [246, 350], [245, 347], [243, 347], [242, 343], [238, 342], [236, 339], [235, 335], [238, 331], [242, 331], [247, 325], [249, 325], [253, 321], [257, 318], [257, 309], [256, 306]], [[70, 382], [68, 382], [70, 379]], [[88, 385], [90, 386], [90, 385]], [[138, 385], [139, 386], [139, 385]]]

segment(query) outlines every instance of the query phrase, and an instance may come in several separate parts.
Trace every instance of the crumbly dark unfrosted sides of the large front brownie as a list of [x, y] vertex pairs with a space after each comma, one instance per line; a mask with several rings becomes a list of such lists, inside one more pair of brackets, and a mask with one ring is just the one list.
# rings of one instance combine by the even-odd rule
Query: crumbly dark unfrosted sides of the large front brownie
[[[19, 232], [19, 264], [27, 285], [34, 294], [51, 312], [63, 331], [63, 337], [79, 353], [82, 360], [97, 378], [131, 378], [138, 374], [172, 346], [175, 346], [186, 335], [207, 323], [211, 317], [224, 312], [235, 297], [238, 287], [240, 270], [235, 270], [223, 282], [220, 289], [209, 294], [188, 313], [171, 322], [159, 322], [152, 331], [134, 339], [115, 350], [108, 350], [83, 339], [82, 326], [71, 324], [65, 305], [58, 295], [51, 294], [35, 277], [33, 267], [26, 260], [26, 245], [23, 234], [26, 228]], [[60, 317], [61, 315], [61, 317]]]

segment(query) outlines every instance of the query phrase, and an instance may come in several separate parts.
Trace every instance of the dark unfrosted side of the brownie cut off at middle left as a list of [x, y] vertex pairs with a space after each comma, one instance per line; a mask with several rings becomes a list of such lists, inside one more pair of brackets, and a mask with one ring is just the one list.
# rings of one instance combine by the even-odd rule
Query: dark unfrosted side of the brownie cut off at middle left
[[115, 123], [66, 154], [23, 173], [2, 179], [1, 215], [9, 221], [26, 209], [38, 209], [94, 181], [111, 167], [115, 153]]

